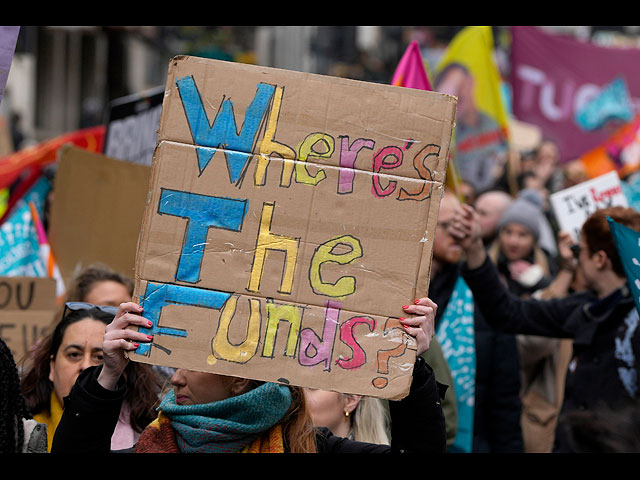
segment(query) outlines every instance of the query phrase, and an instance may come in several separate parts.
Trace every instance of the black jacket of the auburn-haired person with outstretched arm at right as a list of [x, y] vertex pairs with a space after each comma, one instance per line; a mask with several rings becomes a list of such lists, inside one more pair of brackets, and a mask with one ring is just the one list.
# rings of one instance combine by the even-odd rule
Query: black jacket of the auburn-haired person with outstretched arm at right
[[492, 327], [505, 332], [573, 339], [573, 360], [554, 451], [572, 451], [565, 421], [568, 412], [621, 407], [636, 397], [640, 328], [626, 287], [607, 298], [580, 292], [551, 300], [519, 299], [504, 287], [493, 263], [463, 269], [476, 303]]

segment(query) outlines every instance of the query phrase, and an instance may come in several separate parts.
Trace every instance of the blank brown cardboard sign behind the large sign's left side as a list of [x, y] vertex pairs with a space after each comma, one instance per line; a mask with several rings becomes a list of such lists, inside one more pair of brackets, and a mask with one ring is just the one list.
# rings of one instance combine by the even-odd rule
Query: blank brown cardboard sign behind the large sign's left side
[[133, 277], [150, 167], [60, 148], [49, 243], [66, 284], [101, 262]]

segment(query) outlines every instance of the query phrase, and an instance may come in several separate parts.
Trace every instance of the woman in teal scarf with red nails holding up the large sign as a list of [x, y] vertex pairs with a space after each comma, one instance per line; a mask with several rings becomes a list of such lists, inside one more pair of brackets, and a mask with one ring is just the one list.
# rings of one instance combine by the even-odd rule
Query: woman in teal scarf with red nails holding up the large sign
[[[295, 386], [178, 369], [171, 390], [160, 402], [158, 417], [130, 450], [136, 453], [311, 453], [444, 452], [446, 434], [443, 385], [421, 359], [434, 334], [436, 305], [428, 298], [403, 307], [407, 333], [416, 338], [418, 360], [410, 393], [389, 402], [392, 443], [377, 445], [334, 436], [314, 428], [303, 389]], [[85, 370], [65, 399], [52, 452], [109, 452], [110, 432], [126, 395], [122, 373], [126, 351], [148, 342], [127, 328], [148, 326], [132, 302], [118, 308], [104, 337], [104, 364]]]

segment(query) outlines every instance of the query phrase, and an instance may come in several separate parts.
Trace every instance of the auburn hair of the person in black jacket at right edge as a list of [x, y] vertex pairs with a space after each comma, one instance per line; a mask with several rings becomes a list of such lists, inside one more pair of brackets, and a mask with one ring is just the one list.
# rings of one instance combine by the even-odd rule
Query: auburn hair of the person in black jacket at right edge
[[582, 225], [582, 236], [587, 244], [590, 254], [603, 250], [611, 259], [613, 271], [620, 277], [624, 277], [622, 262], [618, 256], [613, 235], [609, 229], [607, 217], [611, 217], [617, 223], [625, 225], [640, 232], [640, 213], [630, 207], [609, 207], [596, 210]]

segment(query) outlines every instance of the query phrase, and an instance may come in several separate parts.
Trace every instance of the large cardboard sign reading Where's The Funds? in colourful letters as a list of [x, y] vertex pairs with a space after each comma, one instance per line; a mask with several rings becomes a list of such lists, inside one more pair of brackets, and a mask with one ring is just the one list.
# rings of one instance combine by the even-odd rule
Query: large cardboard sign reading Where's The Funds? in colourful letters
[[179, 56], [134, 297], [136, 361], [408, 394], [455, 97]]

